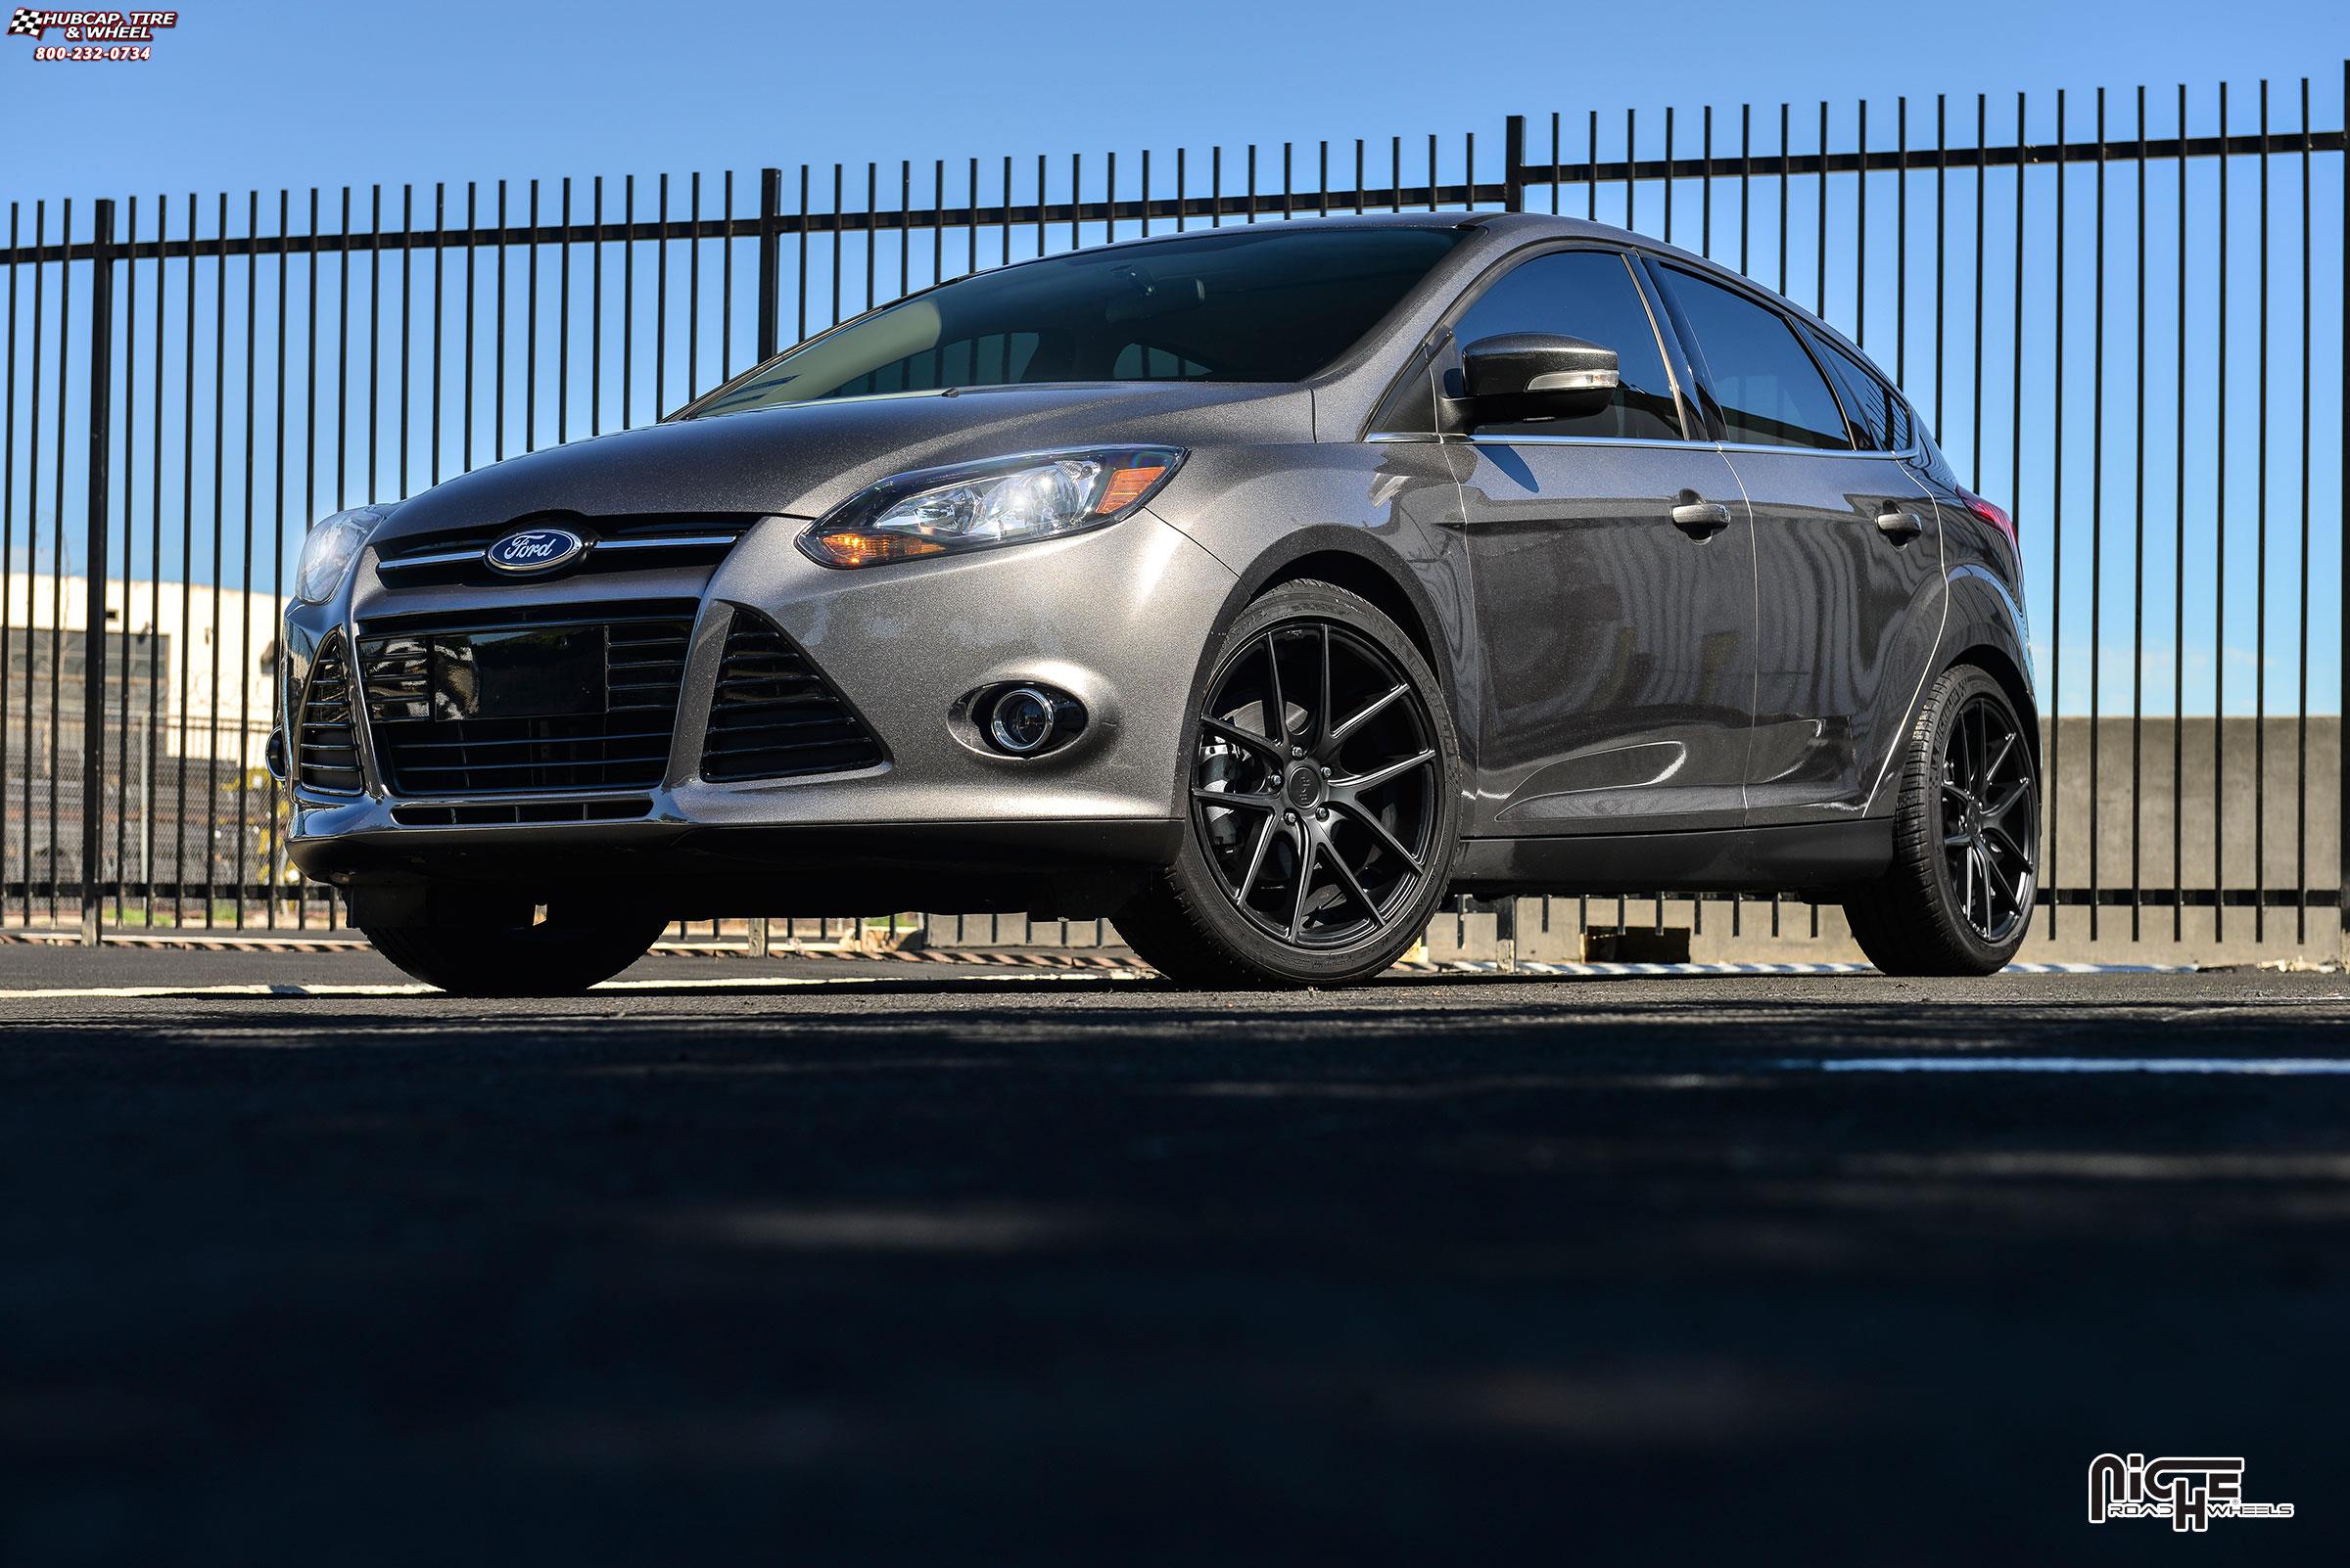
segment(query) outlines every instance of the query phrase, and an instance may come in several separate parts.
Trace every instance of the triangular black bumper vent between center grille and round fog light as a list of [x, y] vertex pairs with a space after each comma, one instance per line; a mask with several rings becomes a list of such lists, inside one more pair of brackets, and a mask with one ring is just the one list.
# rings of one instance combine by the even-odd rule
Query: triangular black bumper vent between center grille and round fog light
[[776, 622], [736, 608], [726, 629], [703, 777], [787, 779], [881, 763], [881, 742]]

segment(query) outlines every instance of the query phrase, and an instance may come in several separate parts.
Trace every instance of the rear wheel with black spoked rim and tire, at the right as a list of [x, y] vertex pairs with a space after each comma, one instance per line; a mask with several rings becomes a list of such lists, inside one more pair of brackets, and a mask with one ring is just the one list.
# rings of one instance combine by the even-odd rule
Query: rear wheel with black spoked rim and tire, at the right
[[1885, 974], [1993, 974], [2033, 925], [2040, 763], [1986, 671], [1943, 671], [1899, 761], [1894, 864], [1845, 897], [1852, 937]]

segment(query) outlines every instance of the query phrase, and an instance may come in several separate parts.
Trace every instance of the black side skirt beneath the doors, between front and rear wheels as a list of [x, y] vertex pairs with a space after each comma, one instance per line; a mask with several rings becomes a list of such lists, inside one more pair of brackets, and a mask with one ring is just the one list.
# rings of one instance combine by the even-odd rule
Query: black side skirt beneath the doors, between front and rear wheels
[[1892, 859], [1892, 817], [1692, 833], [1469, 838], [1452, 861], [1452, 892], [1821, 892], [1868, 883]]

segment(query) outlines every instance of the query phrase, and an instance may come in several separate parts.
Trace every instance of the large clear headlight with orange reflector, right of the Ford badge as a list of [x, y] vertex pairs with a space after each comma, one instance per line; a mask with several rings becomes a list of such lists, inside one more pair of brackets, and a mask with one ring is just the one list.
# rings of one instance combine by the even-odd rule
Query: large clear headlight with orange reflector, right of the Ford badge
[[1133, 516], [1180, 462], [1173, 446], [1100, 446], [919, 469], [860, 491], [799, 547], [825, 566], [884, 566], [1083, 533]]

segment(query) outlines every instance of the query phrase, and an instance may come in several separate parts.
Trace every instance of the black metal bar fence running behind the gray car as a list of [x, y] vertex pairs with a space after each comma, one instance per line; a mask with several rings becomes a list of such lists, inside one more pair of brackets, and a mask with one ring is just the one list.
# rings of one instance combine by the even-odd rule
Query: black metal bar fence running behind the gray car
[[1022, 256], [1539, 209], [1817, 307], [2009, 502], [2063, 716], [2052, 932], [2183, 937], [2193, 913], [2216, 939], [2244, 911], [2310, 939], [2317, 908], [2331, 939], [2350, 160], [2341, 94], [2331, 129], [2308, 80], [2254, 96], [1821, 103], [1817, 122], [1781, 103], [1624, 113], [1622, 131], [1589, 110], [1509, 117], [1483, 146], [9, 202], [0, 922], [334, 922], [284, 859], [261, 765], [280, 592], [322, 512], [646, 423], [783, 340]]

